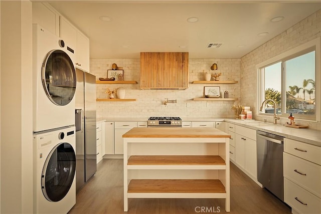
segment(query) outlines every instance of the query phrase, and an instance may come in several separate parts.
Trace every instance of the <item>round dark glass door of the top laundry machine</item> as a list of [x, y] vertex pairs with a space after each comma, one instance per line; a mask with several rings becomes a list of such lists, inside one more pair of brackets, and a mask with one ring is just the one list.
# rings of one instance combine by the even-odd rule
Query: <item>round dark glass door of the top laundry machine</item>
[[76, 71], [66, 52], [53, 50], [47, 54], [42, 65], [41, 78], [51, 102], [58, 106], [70, 103], [76, 90]]

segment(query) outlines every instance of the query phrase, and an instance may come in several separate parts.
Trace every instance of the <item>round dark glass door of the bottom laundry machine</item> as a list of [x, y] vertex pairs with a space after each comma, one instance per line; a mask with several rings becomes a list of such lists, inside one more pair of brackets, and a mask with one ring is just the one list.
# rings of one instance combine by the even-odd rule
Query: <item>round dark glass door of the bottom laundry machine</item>
[[41, 175], [41, 187], [49, 201], [60, 201], [68, 193], [76, 171], [76, 155], [69, 143], [60, 143], [49, 153]]

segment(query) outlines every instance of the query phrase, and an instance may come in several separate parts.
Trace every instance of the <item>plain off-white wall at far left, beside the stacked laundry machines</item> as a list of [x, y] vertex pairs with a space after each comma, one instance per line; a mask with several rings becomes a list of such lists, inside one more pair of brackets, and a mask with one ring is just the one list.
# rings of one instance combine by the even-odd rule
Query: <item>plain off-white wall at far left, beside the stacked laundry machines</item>
[[32, 3], [1, 1], [0, 4], [0, 212], [32, 213]]

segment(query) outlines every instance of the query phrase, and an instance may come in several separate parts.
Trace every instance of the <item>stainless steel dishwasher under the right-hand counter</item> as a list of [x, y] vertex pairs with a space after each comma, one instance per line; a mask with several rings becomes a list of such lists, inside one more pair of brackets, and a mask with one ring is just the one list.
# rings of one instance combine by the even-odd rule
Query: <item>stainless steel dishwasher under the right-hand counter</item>
[[256, 131], [257, 180], [284, 201], [283, 137]]

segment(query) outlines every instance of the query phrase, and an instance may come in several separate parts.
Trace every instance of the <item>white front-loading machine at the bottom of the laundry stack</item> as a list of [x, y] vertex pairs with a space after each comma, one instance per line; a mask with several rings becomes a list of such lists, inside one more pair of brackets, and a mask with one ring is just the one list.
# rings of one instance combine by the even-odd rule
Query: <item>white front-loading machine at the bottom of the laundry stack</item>
[[34, 213], [67, 213], [76, 204], [75, 127], [33, 135]]

